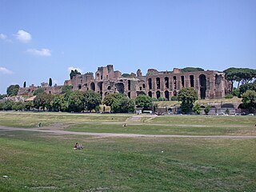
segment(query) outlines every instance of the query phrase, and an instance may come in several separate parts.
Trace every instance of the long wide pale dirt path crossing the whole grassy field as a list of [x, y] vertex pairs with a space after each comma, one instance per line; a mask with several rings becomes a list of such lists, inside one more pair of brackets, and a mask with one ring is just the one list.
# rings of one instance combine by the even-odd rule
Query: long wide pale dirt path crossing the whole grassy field
[[174, 135], [174, 134], [109, 134], [109, 133], [87, 133], [87, 132], [74, 132], [65, 130], [43, 130], [42, 128], [14, 128], [0, 126], [0, 135], [2, 131], [35, 131], [49, 134], [76, 134], [76, 135], [89, 135], [101, 138], [123, 137], [123, 138], [256, 138], [256, 135]]

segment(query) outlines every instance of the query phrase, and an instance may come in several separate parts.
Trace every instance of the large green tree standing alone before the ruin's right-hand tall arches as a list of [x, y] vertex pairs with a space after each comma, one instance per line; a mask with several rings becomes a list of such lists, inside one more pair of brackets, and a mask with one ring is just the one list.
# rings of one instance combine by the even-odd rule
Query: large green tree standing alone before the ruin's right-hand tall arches
[[182, 102], [182, 113], [189, 113], [194, 106], [194, 102], [198, 99], [198, 93], [191, 87], [183, 88], [178, 91], [178, 101]]

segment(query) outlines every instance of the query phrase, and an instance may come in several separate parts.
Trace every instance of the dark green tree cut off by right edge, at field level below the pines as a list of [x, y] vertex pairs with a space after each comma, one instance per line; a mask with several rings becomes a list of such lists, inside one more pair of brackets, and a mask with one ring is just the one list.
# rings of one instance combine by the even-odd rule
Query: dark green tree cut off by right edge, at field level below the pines
[[250, 112], [255, 112], [256, 106], [256, 91], [246, 90], [246, 93], [242, 94], [242, 104], [246, 109], [249, 109]]

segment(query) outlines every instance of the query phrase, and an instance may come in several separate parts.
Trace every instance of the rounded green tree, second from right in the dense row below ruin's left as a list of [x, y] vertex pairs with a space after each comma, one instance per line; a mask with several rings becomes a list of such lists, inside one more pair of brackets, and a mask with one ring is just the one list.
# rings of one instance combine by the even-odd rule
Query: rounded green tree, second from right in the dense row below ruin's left
[[81, 112], [85, 109], [84, 92], [82, 92], [81, 90], [72, 91], [67, 98], [67, 102], [69, 111]]

